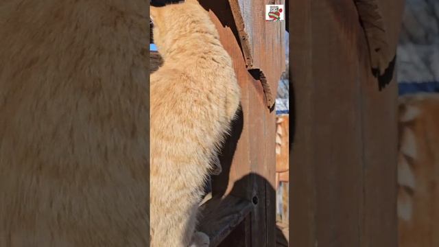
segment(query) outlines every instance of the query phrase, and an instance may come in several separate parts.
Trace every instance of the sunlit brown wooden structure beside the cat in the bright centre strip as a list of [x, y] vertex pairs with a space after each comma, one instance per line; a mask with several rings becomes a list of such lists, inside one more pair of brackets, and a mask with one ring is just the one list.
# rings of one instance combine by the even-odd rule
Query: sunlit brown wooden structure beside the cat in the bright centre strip
[[[274, 95], [285, 70], [285, 22], [265, 21], [265, 1], [201, 0], [233, 59], [241, 111], [203, 204], [200, 230], [211, 246], [276, 246]], [[150, 71], [160, 64], [150, 54]], [[272, 93], [273, 92], [273, 93]]]

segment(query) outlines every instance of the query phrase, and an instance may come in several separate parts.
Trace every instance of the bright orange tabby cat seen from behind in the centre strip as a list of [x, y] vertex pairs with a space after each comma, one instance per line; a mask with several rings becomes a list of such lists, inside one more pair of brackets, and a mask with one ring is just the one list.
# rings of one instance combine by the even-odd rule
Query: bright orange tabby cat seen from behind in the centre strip
[[239, 107], [239, 86], [215, 25], [197, 1], [150, 10], [164, 60], [151, 75], [152, 247], [187, 247], [200, 240], [193, 237], [200, 195]]

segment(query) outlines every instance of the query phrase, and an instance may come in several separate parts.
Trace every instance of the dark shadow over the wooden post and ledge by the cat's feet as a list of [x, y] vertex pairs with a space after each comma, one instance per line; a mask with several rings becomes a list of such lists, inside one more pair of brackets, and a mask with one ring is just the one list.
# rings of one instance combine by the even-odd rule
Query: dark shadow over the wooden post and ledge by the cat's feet
[[[249, 181], [259, 180], [265, 184], [265, 195], [275, 193], [274, 187], [263, 176], [250, 172], [233, 183], [230, 193], [226, 196], [214, 196], [211, 201], [201, 207], [202, 219], [199, 230], [209, 235], [210, 247], [241, 247], [252, 246], [255, 241], [265, 241], [266, 246], [274, 246], [274, 240], [287, 246], [288, 239], [282, 229], [274, 225], [275, 211], [266, 207], [269, 199], [253, 197], [238, 198], [243, 188], [249, 186]], [[272, 202], [274, 203], [274, 202]], [[261, 213], [263, 217], [261, 218]], [[271, 231], [271, 233], [269, 233]], [[271, 235], [274, 239], [267, 237]], [[265, 235], [266, 237], [257, 237]]]

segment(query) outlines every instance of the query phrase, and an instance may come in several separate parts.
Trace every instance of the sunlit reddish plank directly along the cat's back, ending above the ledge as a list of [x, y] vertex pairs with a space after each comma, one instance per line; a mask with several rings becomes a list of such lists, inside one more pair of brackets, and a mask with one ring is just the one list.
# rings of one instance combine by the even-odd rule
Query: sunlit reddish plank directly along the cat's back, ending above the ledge
[[[251, 181], [248, 177], [241, 180], [250, 173], [250, 119], [249, 87], [256, 83], [246, 69], [244, 57], [239, 47], [239, 40], [235, 38], [235, 26], [228, 1], [200, 1], [209, 10], [209, 14], [219, 32], [219, 37], [233, 59], [235, 73], [239, 86], [241, 87], [241, 110], [237, 119], [233, 122], [230, 137], [224, 144], [224, 150], [219, 156], [222, 164], [221, 176], [214, 176], [212, 183], [213, 196], [226, 196], [233, 189], [233, 196], [251, 200]], [[259, 92], [261, 94], [261, 92]], [[257, 106], [251, 106], [257, 107]], [[235, 183], [240, 180], [240, 188]]]

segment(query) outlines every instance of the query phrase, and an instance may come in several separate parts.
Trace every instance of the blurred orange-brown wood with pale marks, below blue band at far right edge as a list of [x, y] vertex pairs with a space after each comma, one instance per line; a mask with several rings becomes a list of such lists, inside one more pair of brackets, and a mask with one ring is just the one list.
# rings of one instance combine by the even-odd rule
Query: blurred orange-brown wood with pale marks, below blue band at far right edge
[[399, 99], [399, 246], [439, 246], [439, 94]]

